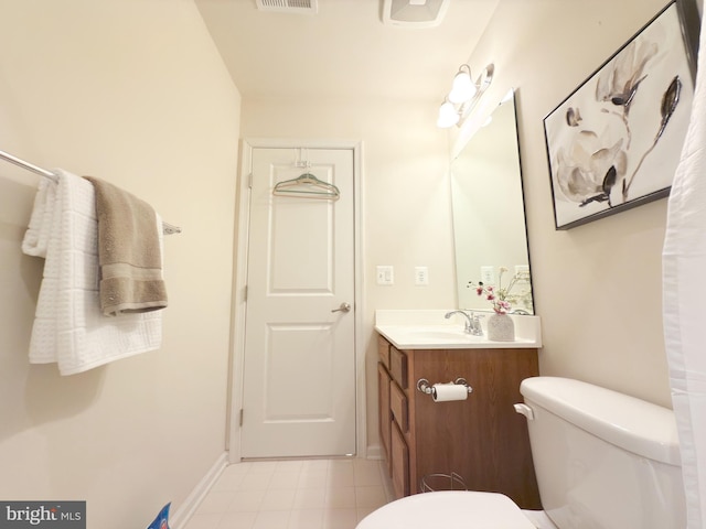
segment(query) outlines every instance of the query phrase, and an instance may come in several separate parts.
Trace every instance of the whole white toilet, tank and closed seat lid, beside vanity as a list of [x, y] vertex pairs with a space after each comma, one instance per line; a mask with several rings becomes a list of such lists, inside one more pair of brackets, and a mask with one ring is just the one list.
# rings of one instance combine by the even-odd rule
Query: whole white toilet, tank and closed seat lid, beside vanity
[[681, 529], [686, 507], [676, 420], [666, 408], [559, 377], [522, 381], [544, 511], [499, 493], [416, 494], [356, 529]]

